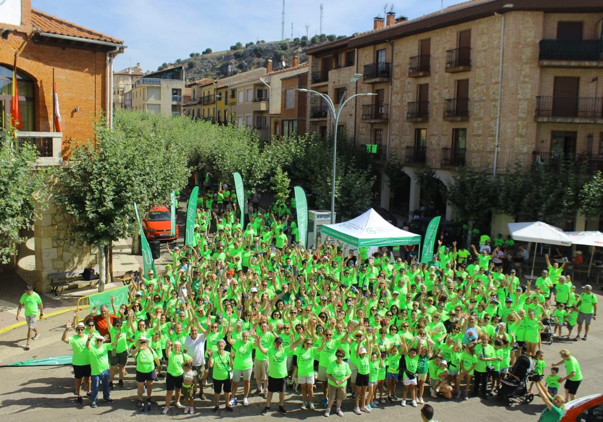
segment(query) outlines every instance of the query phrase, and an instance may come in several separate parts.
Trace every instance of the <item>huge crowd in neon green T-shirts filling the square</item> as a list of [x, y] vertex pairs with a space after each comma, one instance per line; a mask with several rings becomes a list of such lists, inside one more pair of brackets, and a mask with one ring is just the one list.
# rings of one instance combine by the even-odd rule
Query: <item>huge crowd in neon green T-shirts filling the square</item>
[[234, 204], [215, 199], [200, 201], [194, 244], [168, 247], [172, 262], [160, 274], [134, 274], [127, 301], [74, 313], [62, 340], [73, 348], [78, 403], [88, 395], [96, 407], [101, 384], [111, 403], [135, 367], [142, 412], [165, 377], [164, 414], [172, 403], [194, 414], [207, 400], [213, 412], [233, 412], [252, 395], [265, 399], [262, 415], [286, 414], [291, 392], [325, 416], [362, 415], [388, 403], [488, 399], [522, 354], [542, 378], [530, 389], [549, 409], [575, 397], [578, 361], [563, 349], [547, 370], [540, 333], [550, 323], [556, 335], [586, 341], [597, 301], [589, 285], [576, 294], [563, 265], [547, 257], [522, 286], [514, 269], [496, 265], [499, 247], [485, 243], [440, 241], [428, 263], [399, 256], [396, 245], [356, 250], [318, 238], [303, 248], [294, 207], [250, 206], [243, 226]]

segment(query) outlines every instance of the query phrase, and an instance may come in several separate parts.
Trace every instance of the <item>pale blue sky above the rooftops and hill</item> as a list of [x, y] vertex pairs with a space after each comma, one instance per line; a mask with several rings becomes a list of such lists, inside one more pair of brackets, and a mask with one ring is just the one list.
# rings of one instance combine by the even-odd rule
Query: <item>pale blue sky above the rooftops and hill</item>
[[[444, 7], [458, 2], [444, 0]], [[323, 33], [350, 35], [372, 29], [385, 0], [285, 0], [285, 37], [291, 37], [291, 24], [294, 37], [306, 34], [306, 24], [311, 36], [318, 33], [321, 3]], [[410, 19], [440, 8], [440, 0], [394, 4], [396, 16]], [[207, 47], [219, 51], [238, 41], [279, 40], [281, 34], [282, 0], [32, 0], [32, 6], [124, 40], [128, 48], [116, 58], [116, 70], [137, 62], [144, 70], [155, 70], [164, 61]]]

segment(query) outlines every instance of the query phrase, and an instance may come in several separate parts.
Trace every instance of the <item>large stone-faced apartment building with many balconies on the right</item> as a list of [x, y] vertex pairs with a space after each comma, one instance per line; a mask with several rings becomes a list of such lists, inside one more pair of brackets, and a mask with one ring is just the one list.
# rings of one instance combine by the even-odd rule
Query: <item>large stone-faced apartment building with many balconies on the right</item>
[[[412, 20], [388, 13], [371, 31], [306, 50], [309, 87], [336, 103], [346, 87], [376, 93], [352, 99], [339, 125], [357, 145], [378, 146], [381, 206], [453, 218], [450, 207], [429, 209], [418, 168], [447, 184], [464, 165], [500, 174], [517, 160], [528, 168], [563, 156], [600, 166], [602, 18], [587, 0], [473, 0]], [[362, 79], [349, 84], [355, 73]], [[309, 130], [326, 136], [326, 107], [308, 103]], [[396, 192], [382, 173], [390, 157], [409, 176]]]

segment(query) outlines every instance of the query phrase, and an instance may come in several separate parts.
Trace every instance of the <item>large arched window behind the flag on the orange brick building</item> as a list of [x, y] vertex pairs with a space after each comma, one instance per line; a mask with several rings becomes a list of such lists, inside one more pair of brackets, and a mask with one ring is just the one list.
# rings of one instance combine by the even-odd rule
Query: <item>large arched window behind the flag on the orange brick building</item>
[[[24, 72], [17, 69], [17, 88], [19, 90], [19, 105], [24, 131], [34, 131], [34, 81]], [[12, 66], [0, 65], [0, 130], [5, 130], [10, 124], [10, 102], [13, 90]]]

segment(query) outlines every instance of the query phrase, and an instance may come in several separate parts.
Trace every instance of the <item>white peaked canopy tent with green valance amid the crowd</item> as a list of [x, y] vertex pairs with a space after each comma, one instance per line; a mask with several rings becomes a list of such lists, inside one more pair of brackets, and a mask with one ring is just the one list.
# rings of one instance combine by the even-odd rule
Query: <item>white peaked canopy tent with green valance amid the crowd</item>
[[421, 243], [421, 236], [391, 225], [372, 208], [349, 221], [324, 224], [321, 235], [332, 236], [355, 247]]

